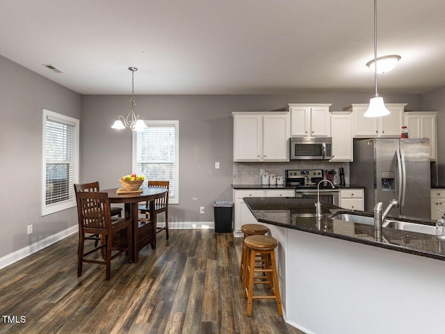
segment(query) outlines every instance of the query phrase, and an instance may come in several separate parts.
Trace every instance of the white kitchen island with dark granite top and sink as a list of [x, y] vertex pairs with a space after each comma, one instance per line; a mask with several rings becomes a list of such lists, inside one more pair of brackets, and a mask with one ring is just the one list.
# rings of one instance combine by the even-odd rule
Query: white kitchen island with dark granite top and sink
[[[444, 333], [445, 242], [330, 218], [313, 200], [244, 198], [278, 240], [286, 322], [305, 333]], [[366, 214], [366, 213], [364, 213]], [[430, 222], [431, 223], [431, 222]]]

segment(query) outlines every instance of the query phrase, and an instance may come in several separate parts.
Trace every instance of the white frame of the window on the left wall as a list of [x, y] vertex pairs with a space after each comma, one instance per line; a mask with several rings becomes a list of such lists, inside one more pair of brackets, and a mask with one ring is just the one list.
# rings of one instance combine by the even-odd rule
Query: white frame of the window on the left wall
[[[72, 198], [68, 200], [62, 200], [56, 203], [47, 204], [47, 150], [46, 150], [46, 139], [47, 139], [47, 120], [55, 120], [56, 122], [61, 122], [67, 125], [74, 126], [74, 175], [72, 184], [68, 184], [68, 193], [72, 192]], [[65, 116], [61, 113], [56, 113], [54, 111], [49, 111], [47, 109], [42, 109], [42, 193], [41, 193], [41, 214], [42, 216], [47, 216], [49, 214], [54, 214], [56, 212], [63, 211], [65, 209], [70, 209], [76, 207], [76, 196], [74, 194], [74, 186], [79, 182], [79, 142], [80, 142], [80, 121], [77, 118], [72, 118], [70, 116]]]

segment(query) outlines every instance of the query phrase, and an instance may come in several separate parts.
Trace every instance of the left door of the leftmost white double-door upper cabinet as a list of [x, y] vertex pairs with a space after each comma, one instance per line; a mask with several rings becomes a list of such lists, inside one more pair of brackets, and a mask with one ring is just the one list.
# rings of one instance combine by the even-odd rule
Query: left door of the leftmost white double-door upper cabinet
[[262, 116], [234, 116], [234, 161], [260, 161], [262, 154]]

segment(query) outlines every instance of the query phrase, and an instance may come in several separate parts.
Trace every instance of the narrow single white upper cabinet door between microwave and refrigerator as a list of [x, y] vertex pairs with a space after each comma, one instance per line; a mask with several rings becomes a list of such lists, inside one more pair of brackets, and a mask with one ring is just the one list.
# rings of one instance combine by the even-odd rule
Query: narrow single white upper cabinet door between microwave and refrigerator
[[353, 161], [353, 119], [350, 112], [331, 112], [332, 155], [330, 161]]

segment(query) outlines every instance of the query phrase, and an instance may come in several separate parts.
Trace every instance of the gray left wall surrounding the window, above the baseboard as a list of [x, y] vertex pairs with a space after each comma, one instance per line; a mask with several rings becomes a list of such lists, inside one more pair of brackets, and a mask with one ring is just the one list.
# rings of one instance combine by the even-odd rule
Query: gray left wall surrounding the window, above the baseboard
[[42, 109], [80, 119], [81, 95], [2, 56], [0, 73], [2, 257], [77, 223], [75, 208], [40, 216]]

